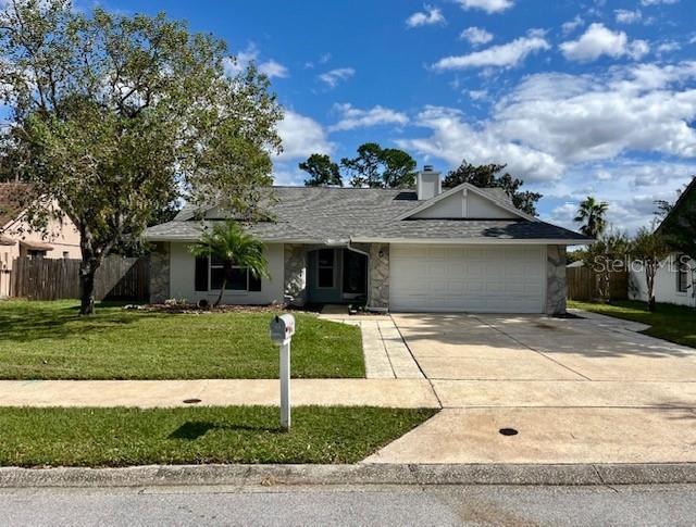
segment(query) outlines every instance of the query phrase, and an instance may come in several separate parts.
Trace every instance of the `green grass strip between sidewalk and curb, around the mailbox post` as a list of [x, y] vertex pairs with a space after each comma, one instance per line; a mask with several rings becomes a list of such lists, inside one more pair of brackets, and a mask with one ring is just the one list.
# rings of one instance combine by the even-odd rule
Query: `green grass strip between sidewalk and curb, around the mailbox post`
[[355, 463], [435, 410], [300, 406], [289, 432], [278, 409], [2, 409], [2, 466]]

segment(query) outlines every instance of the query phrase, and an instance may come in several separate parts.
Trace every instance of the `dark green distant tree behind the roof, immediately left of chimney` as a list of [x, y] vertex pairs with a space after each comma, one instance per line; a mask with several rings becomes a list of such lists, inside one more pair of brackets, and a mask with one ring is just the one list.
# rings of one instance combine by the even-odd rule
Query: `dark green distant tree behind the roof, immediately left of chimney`
[[403, 150], [376, 142], [361, 145], [358, 155], [341, 159], [340, 165], [352, 176], [352, 187], [408, 188], [415, 183], [415, 160]]

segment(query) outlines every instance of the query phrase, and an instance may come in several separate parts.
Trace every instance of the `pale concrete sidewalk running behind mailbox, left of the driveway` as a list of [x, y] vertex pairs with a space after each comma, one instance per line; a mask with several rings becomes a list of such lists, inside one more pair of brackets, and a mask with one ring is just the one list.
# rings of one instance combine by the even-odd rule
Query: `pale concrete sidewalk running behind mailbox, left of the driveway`
[[[293, 379], [295, 405], [439, 407], [425, 379]], [[200, 400], [186, 403], [187, 400]], [[279, 405], [277, 379], [0, 380], [0, 406]]]

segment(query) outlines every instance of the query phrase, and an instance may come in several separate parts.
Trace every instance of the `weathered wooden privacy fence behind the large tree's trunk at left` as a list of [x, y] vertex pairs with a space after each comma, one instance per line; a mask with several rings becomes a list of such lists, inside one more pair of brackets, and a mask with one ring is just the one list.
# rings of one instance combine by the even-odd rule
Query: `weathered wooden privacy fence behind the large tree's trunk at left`
[[[147, 258], [108, 256], [97, 269], [97, 300], [147, 301], [150, 265]], [[79, 260], [15, 259], [10, 297], [29, 300], [79, 298]]]

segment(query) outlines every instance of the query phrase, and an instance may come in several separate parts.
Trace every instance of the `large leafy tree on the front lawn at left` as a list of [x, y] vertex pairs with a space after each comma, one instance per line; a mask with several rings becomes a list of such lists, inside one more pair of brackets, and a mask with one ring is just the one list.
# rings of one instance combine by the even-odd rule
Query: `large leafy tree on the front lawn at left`
[[[77, 226], [83, 314], [94, 312], [104, 256], [179, 192], [252, 217], [259, 185], [271, 183], [282, 112], [253, 65], [225, 76], [234, 58], [223, 41], [164, 14], [11, 0], [0, 55], [13, 122], [0, 165]], [[27, 205], [40, 217], [38, 201]]]

